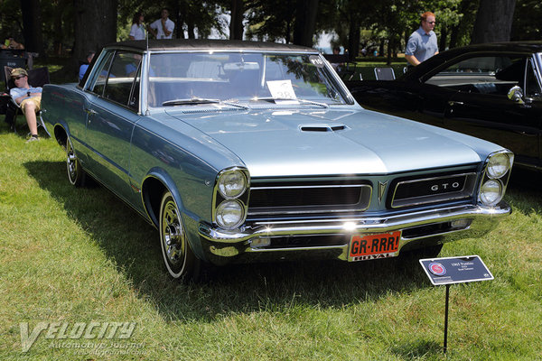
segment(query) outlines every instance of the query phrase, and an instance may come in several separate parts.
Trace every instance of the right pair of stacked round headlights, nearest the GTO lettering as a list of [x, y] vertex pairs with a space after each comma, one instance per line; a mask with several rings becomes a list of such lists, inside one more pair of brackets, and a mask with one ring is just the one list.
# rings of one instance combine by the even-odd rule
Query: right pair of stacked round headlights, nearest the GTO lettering
[[480, 183], [478, 201], [484, 206], [495, 206], [504, 197], [514, 154], [509, 151], [491, 153], [486, 159]]

